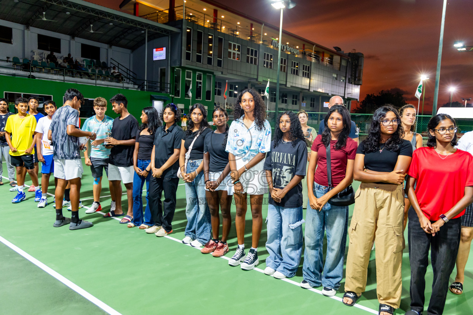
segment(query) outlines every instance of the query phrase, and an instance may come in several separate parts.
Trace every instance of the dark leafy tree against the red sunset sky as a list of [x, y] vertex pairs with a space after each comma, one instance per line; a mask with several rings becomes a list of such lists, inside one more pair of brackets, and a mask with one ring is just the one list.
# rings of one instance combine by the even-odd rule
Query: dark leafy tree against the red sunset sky
[[365, 99], [359, 102], [359, 106], [354, 110], [358, 114], [372, 114], [379, 107], [386, 104], [393, 105], [396, 108], [403, 107], [406, 103], [403, 97], [403, 91], [400, 89], [382, 90], [378, 94], [368, 94]]

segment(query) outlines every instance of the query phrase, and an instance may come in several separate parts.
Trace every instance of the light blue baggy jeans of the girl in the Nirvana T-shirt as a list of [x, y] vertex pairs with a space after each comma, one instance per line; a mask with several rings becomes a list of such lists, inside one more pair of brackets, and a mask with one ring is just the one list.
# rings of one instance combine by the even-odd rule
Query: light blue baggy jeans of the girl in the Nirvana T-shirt
[[288, 278], [294, 277], [302, 255], [302, 206], [284, 208], [269, 204], [266, 249], [266, 267], [270, 267]]

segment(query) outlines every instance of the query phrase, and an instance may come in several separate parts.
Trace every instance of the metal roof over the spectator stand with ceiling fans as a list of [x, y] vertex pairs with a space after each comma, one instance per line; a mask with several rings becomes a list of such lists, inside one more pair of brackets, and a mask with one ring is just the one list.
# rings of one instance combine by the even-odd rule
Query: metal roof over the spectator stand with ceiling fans
[[[43, 20], [44, 17], [53, 21]], [[148, 36], [154, 37], [180, 32], [175, 27], [82, 0], [3, 0], [0, 19], [131, 50], [144, 42], [145, 29]], [[90, 25], [94, 32], [90, 32]]]

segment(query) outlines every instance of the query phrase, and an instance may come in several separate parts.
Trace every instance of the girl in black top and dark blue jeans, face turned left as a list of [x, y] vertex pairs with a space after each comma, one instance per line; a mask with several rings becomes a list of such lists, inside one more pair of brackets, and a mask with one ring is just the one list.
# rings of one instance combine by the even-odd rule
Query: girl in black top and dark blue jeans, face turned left
[[[129, 228], [140, 225], [140, 229], [147, 229], [154, 223], [149, 212], [149, 179], [151, 171], [151, 152], [153, 151], [154, 136], [161, 126], [158, 111], [154, 107], [145, 107], [141, 111], [141, 126], [136, 134], [135, 151], [133, 152], [133, 220], [128, 223]], [[143, 185], [146, 181], [146, 209], [143, 221]]]

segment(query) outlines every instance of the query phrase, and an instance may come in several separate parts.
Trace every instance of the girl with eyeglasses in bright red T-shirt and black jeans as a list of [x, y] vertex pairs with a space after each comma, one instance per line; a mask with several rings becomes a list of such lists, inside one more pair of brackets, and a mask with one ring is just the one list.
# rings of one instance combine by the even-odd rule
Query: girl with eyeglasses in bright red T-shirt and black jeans
[[412, 204], [408, 226], [411, 310], [406, 315], [420, 315], [424, 310], [429, 250], [433, 284], [427, 313], [443, 313], [460, 243], [460, 217], [473, 202], [473, 156], [455, 148], [455, 120], [438, 114], [427, 128], [427, 147], [414, 152], [406, 187]]

